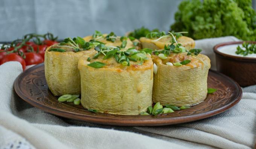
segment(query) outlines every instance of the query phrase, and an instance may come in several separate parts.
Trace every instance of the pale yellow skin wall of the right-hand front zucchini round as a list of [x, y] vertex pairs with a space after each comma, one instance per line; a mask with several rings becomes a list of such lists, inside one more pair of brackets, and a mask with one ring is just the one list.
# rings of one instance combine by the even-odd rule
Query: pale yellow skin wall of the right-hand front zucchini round
[[156, 59], [158, 70], [154, 75], [152, 99], [161, 104], [176, 106], [195, 105], [204, 101], [207, 96], [207, 76], [210, 68], [210, 59], [199, 54], [207, 65], [196, 68], [189, 66], [168, 66], [159, 63]]

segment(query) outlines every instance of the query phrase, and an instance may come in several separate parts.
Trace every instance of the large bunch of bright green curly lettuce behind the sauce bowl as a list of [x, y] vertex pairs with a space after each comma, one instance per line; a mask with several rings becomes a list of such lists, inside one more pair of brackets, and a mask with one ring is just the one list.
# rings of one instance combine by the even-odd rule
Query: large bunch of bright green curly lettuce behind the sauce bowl
[[172, 31], [194, 39], [235, 36], [256, 40], [256, 12], [251, 0], [185, 0], [178, 6]]

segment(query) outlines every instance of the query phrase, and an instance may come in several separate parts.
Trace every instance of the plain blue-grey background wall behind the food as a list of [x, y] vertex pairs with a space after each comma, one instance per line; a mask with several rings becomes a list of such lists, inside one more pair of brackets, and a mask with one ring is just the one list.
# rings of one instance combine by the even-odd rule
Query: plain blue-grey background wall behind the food
[[141, 26], [167, 31], [181, 1], [0, 0], [0, 41], [47, 32], [59, 39], [91, 35], [94, 30], [123, 35]]

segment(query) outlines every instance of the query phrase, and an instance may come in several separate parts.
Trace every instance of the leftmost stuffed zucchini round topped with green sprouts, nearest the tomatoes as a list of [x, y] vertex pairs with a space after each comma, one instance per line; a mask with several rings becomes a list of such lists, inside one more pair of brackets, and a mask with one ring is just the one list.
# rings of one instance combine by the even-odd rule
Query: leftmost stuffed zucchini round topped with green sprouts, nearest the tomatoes
[[82, 38], [67, 38], [46, 49], [44, 71], [53, 95], [81, 93], [78, 60], [84, 54], [96, 53], [94, 46], [98, 44], [85, 42]]

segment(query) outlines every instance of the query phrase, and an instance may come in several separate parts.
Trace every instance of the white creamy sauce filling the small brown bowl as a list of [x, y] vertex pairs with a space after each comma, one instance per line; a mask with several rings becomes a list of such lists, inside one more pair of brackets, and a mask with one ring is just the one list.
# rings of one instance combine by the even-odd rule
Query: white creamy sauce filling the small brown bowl
[[232, 55], [232, 56], [239, 56], [239, 57], [254, 57], [256, 58], [256, 54], [248, 54], [247, 56], [243, 56], [241, 54], [236, 54], [236, 48], [238, 45], [245, 50], [245, 48], [242, 47], [242, 44], [233, 44], [233, 45], [225, 45], [222, 47], [219, 47], [217, 50], [221, 53]]

